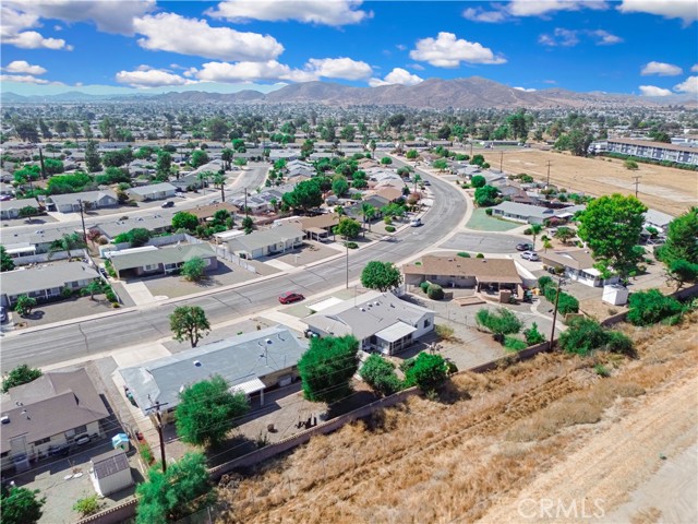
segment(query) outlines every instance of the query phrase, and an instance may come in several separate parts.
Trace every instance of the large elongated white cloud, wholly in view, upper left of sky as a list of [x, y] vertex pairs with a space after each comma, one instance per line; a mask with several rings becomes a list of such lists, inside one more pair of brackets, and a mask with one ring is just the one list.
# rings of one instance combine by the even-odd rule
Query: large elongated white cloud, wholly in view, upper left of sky
[[204, 20], [185, 19], [174, 13], [137, 19], [134, 27], [145, 36], [139, 39], [139, 45], [153, 51], [242, 61], [269, 60], [284, 52], [284, 46], [272, 36], [210, 27]]

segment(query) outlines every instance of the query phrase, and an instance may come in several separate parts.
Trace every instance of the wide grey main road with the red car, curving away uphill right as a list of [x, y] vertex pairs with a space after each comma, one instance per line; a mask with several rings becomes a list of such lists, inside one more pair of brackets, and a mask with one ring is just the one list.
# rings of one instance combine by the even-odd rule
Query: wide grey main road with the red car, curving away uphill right
[[[349, 277], [354, 279], [371, 260], [400, 261], [438, 242], [462, 221], [466, 202], [458, 191], [442, 180], [422, 175], [432, 182], [434, 205], [424, 217], [424, 225], [407, 228], [394, 241], [377, 242], [369, 249], [351, 251]], [[346, 279], [346, 259], [335, 259], [300, 273], [249, 284], [234, 290], [222, 290], [206, 297], [181, 300], [178, 303], [201, 306], [212, 324], [236, 317], [256, 313], [278, 305], [278, 295], [296, 289], [314, 295], [341, 285]], [[88, 357], [97, 353], [156, 341], [170, 335], [168, 315], [176, 305], [161, 305], [123, 310], [119, 314], [84, 320], [70, 325], [50, 327], [25, 334], [12, 334], [2, 341], [0, 364], [12, 369], [20, 364], [47, 366], [64, 360]]]

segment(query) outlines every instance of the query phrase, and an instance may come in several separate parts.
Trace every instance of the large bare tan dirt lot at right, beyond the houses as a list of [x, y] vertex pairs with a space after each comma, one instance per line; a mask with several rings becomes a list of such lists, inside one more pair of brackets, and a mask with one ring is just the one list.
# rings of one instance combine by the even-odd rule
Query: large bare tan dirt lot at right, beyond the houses
[[[493, 166], [500, 166], [500, 151], [484, 153]], [[672, 167], [639, 164], [629, 171], [623, 160], [611, 158], [581, 158], [563, 153], [539, 150], [513, 150], [504, 152], [504, 171], [526, 172], [544, 180], [551, 163], [550, 179], [558, 188], [583, 191], [595, 196], [610, 193], [635, 192], [633, 177], [640, 177], [638, 198], [649, 207], [672, 215], [679, 215], [698, 200], [698, 174]]]

